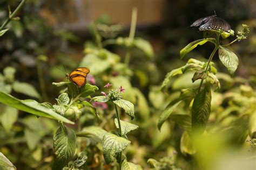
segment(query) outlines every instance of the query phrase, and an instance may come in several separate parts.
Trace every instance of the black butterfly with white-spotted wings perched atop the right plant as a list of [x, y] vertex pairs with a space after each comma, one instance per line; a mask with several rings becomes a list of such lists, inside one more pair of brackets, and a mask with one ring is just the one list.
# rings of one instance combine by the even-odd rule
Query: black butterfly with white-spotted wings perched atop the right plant
[[226, 32], [230, 32], [230, 24], [228, 24], [224, 19], [216, 17], [217, 15], [212, 15], [204, 18], [200, 18], [196, 20], [190, 26], [199, 26], [200, 31], [205, 30], [223, 30]]

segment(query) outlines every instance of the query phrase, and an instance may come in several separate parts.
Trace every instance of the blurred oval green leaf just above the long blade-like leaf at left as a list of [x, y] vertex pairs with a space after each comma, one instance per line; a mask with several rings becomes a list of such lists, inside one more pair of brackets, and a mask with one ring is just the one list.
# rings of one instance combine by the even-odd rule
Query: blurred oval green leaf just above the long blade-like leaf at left
[[37, 90], [29, 83], [15, 81], [14, 84], [12, 84], [12, 89], [14, 89], [14, 91], [16, 91], [17, 93], [22, 93], [31, 97], [41, 97]]

